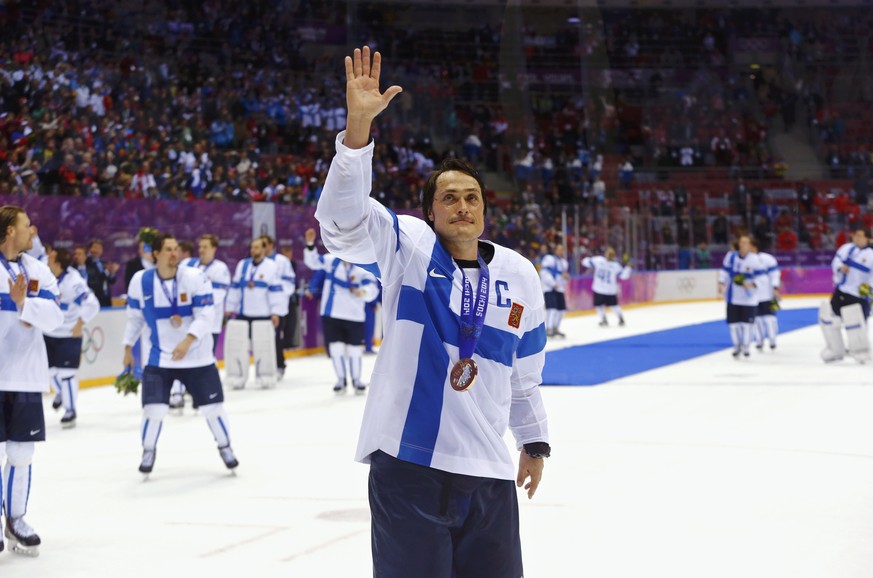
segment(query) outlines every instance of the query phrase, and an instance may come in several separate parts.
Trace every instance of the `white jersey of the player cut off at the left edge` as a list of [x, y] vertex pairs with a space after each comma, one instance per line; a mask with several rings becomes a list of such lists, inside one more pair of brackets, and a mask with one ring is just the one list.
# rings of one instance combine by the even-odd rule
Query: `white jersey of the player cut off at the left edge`
[[0, 391], [45, 392], [51, 378], [43, 334], [64, 322], [58, 280], [48, 265], [24, 253], [6, 264], [16, 278], [25, 276], [28, 291], [19, 311], [9, 272], [0, 266]]

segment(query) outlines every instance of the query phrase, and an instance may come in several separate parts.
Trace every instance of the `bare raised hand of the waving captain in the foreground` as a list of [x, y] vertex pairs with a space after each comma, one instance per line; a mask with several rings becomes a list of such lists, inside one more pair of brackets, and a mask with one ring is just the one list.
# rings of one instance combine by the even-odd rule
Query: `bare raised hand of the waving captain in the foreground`
[[369, 46], [355, 48], [353, 56], [346, 56], [345, 65], [348, 120], [344, 144], [362, 148], [370, 140], [370, 123], [403, 89], [395, 85], [379, 92], [382, 55], [376, 52], [371, 62]]

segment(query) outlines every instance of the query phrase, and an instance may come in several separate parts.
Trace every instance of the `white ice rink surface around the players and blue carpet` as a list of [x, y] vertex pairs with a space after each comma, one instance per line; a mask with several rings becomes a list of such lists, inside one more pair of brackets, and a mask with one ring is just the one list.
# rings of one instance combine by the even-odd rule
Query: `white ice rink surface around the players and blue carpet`
[[[549, 347], [723, 310], [635, 308], [624, 328], [575, 317]], [[535, 498], [519, 494], [526, 578], [873, 576], [873, 367], [824, 365], [817, 326], [744, 361], [727, 327], [725, 341], [603, 385], [543, 388], [553, 457]], [[138, 399], [85, 390], [78, 427], [61, 430], [47, 397], [27, 515], [41, 555], [7, 550], [0, 577], [371, 576], [367, 467], [352, 460], [364, 398], [333, 382], [314, 356], [290, 360], [276, 390], [226, 392], [236, 476], [202, 417], [169, 416], [148, 481]]]

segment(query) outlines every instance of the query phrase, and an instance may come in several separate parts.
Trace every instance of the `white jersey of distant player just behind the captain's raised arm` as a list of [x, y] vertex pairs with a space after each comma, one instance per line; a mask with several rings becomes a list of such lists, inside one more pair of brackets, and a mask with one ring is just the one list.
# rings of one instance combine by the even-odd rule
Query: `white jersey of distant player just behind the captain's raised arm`
[[[303, 262], [313, 271], [324, 271], [321, 292], [321, 316], [346, 321], [364, 321], [365, 304], [379, 296], [375, 275], [331, 254], [319, 255], [317, 249], [303, 251]], [[362, 295], [355, 295], [360, 290]]]

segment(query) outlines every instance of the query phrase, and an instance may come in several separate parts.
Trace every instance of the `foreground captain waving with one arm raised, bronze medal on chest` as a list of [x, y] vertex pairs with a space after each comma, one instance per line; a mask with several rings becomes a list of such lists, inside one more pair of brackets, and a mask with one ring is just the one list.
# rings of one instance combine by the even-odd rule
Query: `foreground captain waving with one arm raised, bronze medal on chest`
[[383, 287], [384, 340], [357, 451], [370, 463], [373, 574], [518, 577], [512, 480], [530, 478], [532, 497], [549, 453], [542, 289], [530, 261], [478, 241], [486, 199], [463, 162], [427, 180], [426, 221], [369, 198], [370, 126], [400, 92], [379, 92], [380, 69], [367, 47], [346, 58], [348, 130], [315, 213], [327, 250]]

